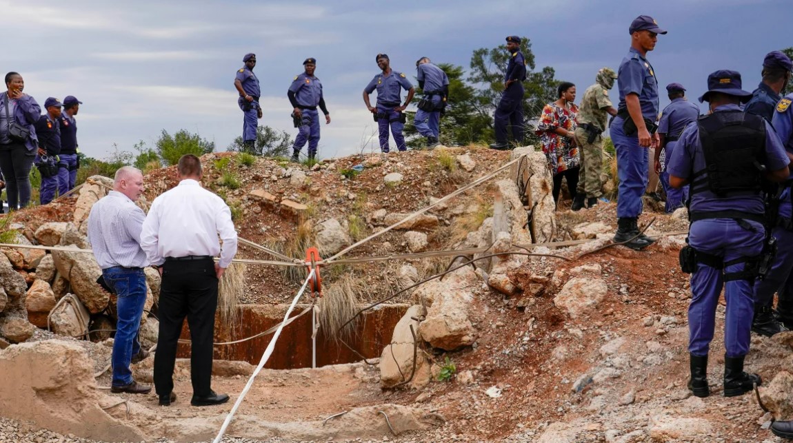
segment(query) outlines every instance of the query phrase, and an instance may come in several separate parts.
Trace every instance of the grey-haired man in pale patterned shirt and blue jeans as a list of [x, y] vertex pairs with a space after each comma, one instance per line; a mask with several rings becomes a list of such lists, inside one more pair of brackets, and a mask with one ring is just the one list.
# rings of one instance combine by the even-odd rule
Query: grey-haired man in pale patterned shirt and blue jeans
[[102, 268], [102, 278], [118, 297], [116, 336], [113, 339], [113, 382], [110, 391], [147, 394], [151, 386], [132, 380], [129, 364], [143, 360], [148, 352], [140, 348], [138, 330], [146, 303], [148, 261], [140, 248], [140, 230], [146, 214], [135, 205], [144, 192], [140, 170], [125, 166], [116, 171], [113, 190], [91, 208], [88, 240]]

